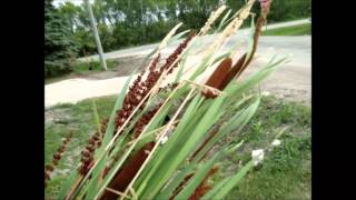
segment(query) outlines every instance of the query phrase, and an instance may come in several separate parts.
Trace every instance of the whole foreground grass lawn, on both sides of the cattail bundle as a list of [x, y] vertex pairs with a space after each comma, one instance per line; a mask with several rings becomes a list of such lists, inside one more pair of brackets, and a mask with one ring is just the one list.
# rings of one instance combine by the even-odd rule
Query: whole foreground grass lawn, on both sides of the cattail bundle
[[[108, 117], [115, 103], [115, 97], [97, 99], [99, 117]], [[51, 161], [61, 138], [73, 130], [72, 141], [68, 143], [53, 178], [46, 189], [47, 199], [56, 197], [60, 183], [70, 170], [76, 169], [80, 151], [89, 136], [96, 130], [91, 101], [77, 104], [60, 104], [46, 110], [44, 152], [46, 163]], [[230, 156], [222, 166], [226, 170], [217, 173], [220, 179], [236, 173], [236, 164], [245, 160], [253, 149], [264, 148], [269, 143], [277, 130], [288, 126], [289, 129], [280, 138], [281, 146], [267, 154], [263, 164], [250, 171], [230, 192], [227, 199], [310, 199], [312, 190], [312, 136], [310, 108], [295, 102], [287, 102], [274, 97], [265, 97], [257, 114], [241, 132], [234, 132], [229, 139], [245, 139], [246, 146]], [[238, 136], [237, 136], [238, 134]], [[234, 167], [235, 166], [235, 167]]]

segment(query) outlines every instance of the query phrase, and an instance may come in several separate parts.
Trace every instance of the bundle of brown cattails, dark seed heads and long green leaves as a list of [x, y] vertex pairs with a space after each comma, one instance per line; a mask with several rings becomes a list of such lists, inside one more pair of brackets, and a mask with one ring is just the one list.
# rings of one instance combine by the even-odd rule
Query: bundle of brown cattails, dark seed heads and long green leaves
[[[181, 23], [170, 31], [151, 53], [146, 71], [127, 80], [111, 116], [89, 139], [81, 167], [61, 186], [58, 199], [222, 199], [255, 163], [251, 157], [235, 176], [211, 182], [212, 176], [224, 170], [219, 162], [238, 153], [244, 144], [241, 139], [236, 144], [224, 138], [241, 131], [256, 112], [260, 97], [250, 89], [286, 62], [285, 58], [271, 59], [240, 79], [257, 49], [270, 7], [266, 0], [257, 22], [251, 20], [246, 52], [236, 60], [234, 46], [221, 56], [221, 47], [251, 16], [254, 3], [248, 0], [236, 13], [226, 12], [218, 26], [220, 33], [209, 46], [199, 41], [225, 6], [211, 13], [198, 32], [176, 34]], [[187, 32], [159, 66], [161, 50]], [[191, 49], [201, 53], [191, 54]], [[189, 64], [192, 57], [201, 60]], [[226, 142], [214, 148], [220, 141]]]

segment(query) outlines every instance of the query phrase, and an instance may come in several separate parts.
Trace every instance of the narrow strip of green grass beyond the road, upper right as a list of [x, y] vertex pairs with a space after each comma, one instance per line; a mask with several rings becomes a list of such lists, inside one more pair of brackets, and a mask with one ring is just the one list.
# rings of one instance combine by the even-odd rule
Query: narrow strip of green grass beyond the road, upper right
[[278, 29], [271, 29], [263, 32], [263, 36], [310, 36], [312, 34], [312, 23], [284, 27]]

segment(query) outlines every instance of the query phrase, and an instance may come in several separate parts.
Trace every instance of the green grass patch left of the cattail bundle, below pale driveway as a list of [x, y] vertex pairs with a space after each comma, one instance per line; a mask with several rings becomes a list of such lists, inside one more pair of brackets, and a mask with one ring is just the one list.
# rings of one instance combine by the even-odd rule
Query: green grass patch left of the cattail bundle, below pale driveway
[[[115, 100], [113, 97], [105, 97], [96, 101], [100, 119], [110, 114]], [[97, 130], [95, 124], [91, 100], [77, 104], [58, 104], [46, 110], [44, 163], [51, 162], [52, 154], [61, 146], [61, 138], [65, 138], [69, 131], [73, 131], [72, 140], [68, 143], [68, 149], [53, 171], [61, 173], [53, 176], [53, 180], [47, 186], [46, 199], [56, 197], [59, 186], [66, 180], [70, 170], [78, 168], [76, 164], [80, 162], [80, 151]]]

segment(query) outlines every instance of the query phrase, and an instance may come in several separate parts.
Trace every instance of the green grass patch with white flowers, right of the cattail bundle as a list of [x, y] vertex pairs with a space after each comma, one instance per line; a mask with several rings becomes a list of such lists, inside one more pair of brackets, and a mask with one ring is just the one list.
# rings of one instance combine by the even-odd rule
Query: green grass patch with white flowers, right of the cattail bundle
[[310, 118], [308, 107], [264, 98], [256, 116], [238, 137], [245, 139], [246, 146], [230, 162], [237, 163], [248, 158], [251, 150], [266, 147], [279, 128], [289, 129], [280, 138], [281, 146], [267, 154], [263, 164], [251, 171], [227, 199], [310, 199]]

